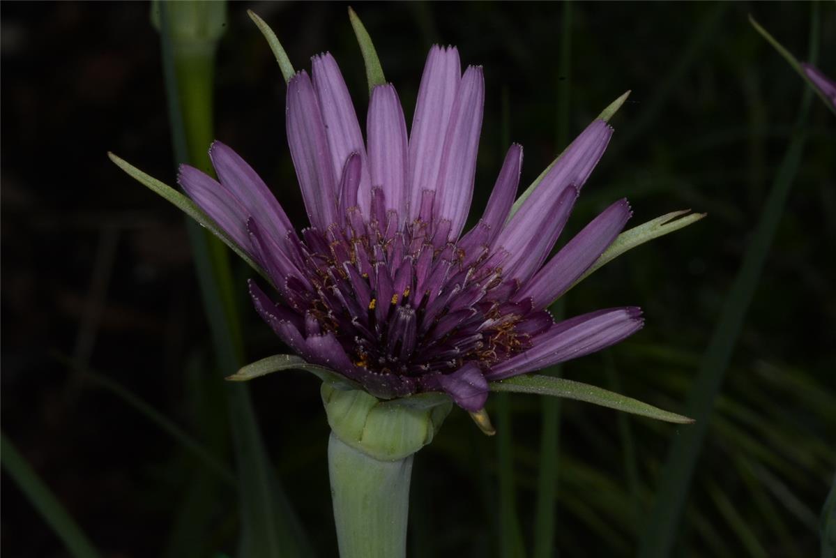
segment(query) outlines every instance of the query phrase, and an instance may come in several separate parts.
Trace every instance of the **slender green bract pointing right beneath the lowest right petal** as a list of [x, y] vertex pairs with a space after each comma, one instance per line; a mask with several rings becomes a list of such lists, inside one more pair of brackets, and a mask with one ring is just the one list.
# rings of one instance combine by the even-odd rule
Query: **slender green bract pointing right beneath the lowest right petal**
[[679, 424], [690, 424], [693, 419], [683, 417], [675, 412], [663, 411], [632, 397], [626, 397], [619, 393], [609, 392], [602, 387], [590, 386], [579, 381], [566, 380], [553, 376], [541, 376], [528, 374], [515, 376], [507, 380], [494, 381], [491, 383], [492, 392], [517, 392], [535, 393], [537, 395], [549, 395], [553, 397], [565, 397], [588, 403], [594, 403], [601, 407], [609, 407], [616, 411], [631, 412], [642, 417], [655, 418], [665, 422], [676, 422]]

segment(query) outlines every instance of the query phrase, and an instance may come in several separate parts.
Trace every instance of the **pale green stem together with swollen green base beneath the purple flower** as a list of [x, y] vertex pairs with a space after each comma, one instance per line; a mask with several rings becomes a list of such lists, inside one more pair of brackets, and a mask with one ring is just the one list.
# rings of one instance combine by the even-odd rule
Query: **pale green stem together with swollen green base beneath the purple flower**
[[415, 453], [431, 443], [450, 397], [422, 393], [381, 401], [324, 381], [331, 426], [328, 464], [341, 558], [406, 555], [406, 517]]

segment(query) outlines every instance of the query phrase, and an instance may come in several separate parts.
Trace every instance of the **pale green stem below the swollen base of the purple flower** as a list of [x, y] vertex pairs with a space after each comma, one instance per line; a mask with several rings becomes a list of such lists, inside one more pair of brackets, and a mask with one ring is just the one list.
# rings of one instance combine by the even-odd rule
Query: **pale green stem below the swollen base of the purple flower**
[[380, 461], [331, 433], [328, 467], [340, 558], [406, 555], [414, 456]]

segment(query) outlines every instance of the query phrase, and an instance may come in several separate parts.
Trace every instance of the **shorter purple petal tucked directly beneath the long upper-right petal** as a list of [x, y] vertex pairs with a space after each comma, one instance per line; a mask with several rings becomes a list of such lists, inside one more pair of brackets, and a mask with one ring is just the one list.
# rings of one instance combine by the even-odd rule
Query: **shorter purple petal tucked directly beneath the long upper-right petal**
[[543, 221], [528, 223], [528, 219], [521, 219], [520, 223], [526, 226], [520, 228], [516, 235], [507, 236], [506, 243], [502, 244], [502, 248], [511, 254], [502, 265], [502, 275], [506, 279], [525, 282], [540, 269], [563, 231], [576, 199], [578, 191], [568, 187], [548, 204], [548, 212], [543, 213]]

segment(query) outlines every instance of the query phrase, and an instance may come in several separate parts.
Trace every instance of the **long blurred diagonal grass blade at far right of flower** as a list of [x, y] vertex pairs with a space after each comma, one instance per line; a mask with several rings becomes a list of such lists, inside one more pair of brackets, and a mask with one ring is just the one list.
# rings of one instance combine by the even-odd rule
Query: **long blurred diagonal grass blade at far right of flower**
[[[810, 59], [815, 59], [818, 49], [818, 4], [813, 3], [813, 17], [810, 33]], [[793, 179], [801, 164], [804, 145], [807, 141], [805, 124], [808, 119], [812, 92], [804, 92], [798, 111], [795, 131], [779, 166], [767, 202], [757, 223], [757, 228], [746, 253], [732, 289], [726, 297], [720, 320], [711, 337], [709, 346], [701, 360], [686, 412], [696, 418], [696, 424], [684, 430], [674, 439], [668, 458], [660, 475], [659, 490], [654, 507], [647, 518], [640, 540], [642, 558], [661, 558], [670, 555], [674, 545], [682, 510], [685, 507], [691, 478], [696, 468], [706, 429], [711, 419], [714, 400], [723, 381], [737, 343], [737, 336], [746, 317], [747, 310], [757, 289], [763, 265], [767, 259], [772, 237], [781, 219]]]

